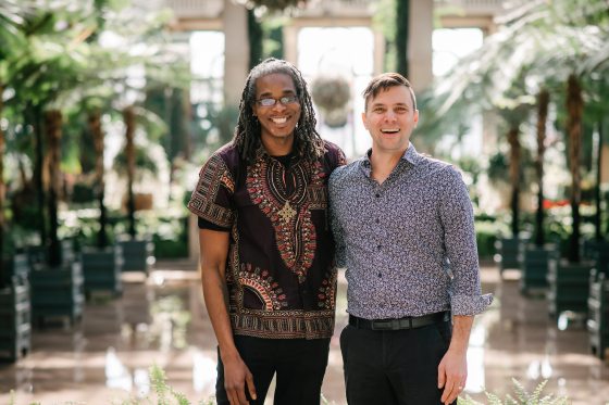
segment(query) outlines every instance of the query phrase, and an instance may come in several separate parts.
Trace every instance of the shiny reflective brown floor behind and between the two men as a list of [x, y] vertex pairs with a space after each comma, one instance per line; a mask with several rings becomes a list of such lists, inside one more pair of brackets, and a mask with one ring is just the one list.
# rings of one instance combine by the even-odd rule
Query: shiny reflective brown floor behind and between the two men
[[[15, 364], [0, 364], [0, 404], [11, 402], [10, 390], [17, 405], [121, 403], [150, 390], [148, 368], [153, 364], [166, 370], [169, 382], [191, 403], [209, 398], [215, 338], [197, 273], [174, 267], [160, 263], [147, 280], [126, 275], [122, 298], [98, 296], [87, 303], [75, 327], [60, 321], [35, 329], [32, 352]], [[559, 328], [546, 301], [523, 298], [510, 275], [500, 280], [493, 266], [482, 275], [483, 291], [494, 292], [496, 300], [474, 325], [465, 393], [487, 403], [482, 387], [505, 395], [513, 392], [512, 377], [529, 390], [547, 379], [545, 392], [568, 395], [573, 405], [609, 404], [609, 363], [589, 354], [583, 326], [574, 321]], [[345, 289], [340, 278], [323, 385], [327, 402], [336, 405], [346, 403], [337, 339], [347, 321]]]

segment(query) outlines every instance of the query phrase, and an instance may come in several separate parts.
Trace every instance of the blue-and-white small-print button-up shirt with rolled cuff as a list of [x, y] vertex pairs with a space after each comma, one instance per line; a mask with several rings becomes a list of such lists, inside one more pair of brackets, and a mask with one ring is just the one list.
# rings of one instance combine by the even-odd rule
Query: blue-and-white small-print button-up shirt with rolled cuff
[[366, 319], [483, 312], [493, 298], [481, 295], [473, 210], [459, 172], [410, 144], [378, 185], [369, 154], [336, 169], [328, 186], [347, 312]]

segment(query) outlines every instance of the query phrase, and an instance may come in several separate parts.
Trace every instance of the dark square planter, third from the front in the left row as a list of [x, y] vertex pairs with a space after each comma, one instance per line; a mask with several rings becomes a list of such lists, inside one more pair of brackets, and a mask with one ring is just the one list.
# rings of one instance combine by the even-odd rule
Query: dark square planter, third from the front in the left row
[[85, 248], [80, 253], [85, 294], [87, 298], [95, 291], [108, 291], [119, 295], [123, 291], [121, 271], [123, 270], [123, 250], [120, 245], [105, 249]]

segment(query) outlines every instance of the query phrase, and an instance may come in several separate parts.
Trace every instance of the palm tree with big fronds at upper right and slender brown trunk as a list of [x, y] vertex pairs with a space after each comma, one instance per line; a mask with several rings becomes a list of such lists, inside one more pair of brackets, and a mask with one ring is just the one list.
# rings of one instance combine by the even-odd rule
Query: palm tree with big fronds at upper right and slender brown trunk
[[[569, 135], [574, 138], [570, 144], [581, 142], [581, 132], [575, 126], [581, 125], [577, 111], [581, 103], [577, 89], [581, 80], [586, 80], [586, 61], [597, 68], [605, 64], [598, 60], [599, 50], [607, 49], [608, 20], [606, 2], [594, 1], [555, 1], [548, 3], [543, 0], [527, 2], [510, 13], [502, 22], [497, 34], [487, 38], [482, 49], [460, 61], [453, 72], [436, 88], [434, 94], [439, 102], [438, 117], [446, 119], [446, 113], [451, 111], [460, 116], [472, 110], [494, 110], [497, 100], [512, 86], [521, 81], [519, 77], [526, 72], [526, 78], [534, 77], [544, 87], [544, 83], [569, 83], [570, 105]], [[606, 51], [605, 54], [609, 54]], [[591, 61], [594, 61], [591, 62]], [[598, 71], [597, 71], [598, 72]], [[548, 91], [555, 88], [548, 86]], [[436, 104], [437, 106], [437, 104]], [[423, 114], [424, 116], [424, 114]], [[545, 122], [538, 117], [537, 122]], [[457, 118], [457, 122], [459, 118]], [[572, 174], [572, 204], [580, 201], [580, 147], [573, 145], [570, 152], [570, 170]], [[574, 154], [577, 154], [575, 156]], [[540, 163], [540, 162], [539, 162]], [[512, 187], [514, 187], [512, 185]], [[539, 210], [543, 208], [543, 204]], [[542, 215], [543, 217], [543, 215]], [[573, 210], [573, 235], [569, 258], [577, 261], [574, 246], [580, 239], [579, 211]]]

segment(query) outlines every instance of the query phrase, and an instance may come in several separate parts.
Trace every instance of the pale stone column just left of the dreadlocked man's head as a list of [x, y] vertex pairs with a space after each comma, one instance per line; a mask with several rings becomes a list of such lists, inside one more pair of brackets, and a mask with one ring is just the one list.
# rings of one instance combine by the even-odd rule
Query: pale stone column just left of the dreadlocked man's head
[[224, 103], [238, 104], [249, 73], [247, 11], [233, 1], [224, 2]]

